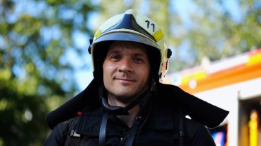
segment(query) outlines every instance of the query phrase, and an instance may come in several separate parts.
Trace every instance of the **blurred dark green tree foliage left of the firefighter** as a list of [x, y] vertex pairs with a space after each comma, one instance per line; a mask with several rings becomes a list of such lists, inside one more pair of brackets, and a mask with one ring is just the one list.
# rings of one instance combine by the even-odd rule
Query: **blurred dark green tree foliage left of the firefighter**
[[[68, 50], [86, 27], [90, 1], [0, 2], [0, 145], [43, 145], [45, 117], [78, 89]], [[88, 41], [88, 40], [87, 40]]]

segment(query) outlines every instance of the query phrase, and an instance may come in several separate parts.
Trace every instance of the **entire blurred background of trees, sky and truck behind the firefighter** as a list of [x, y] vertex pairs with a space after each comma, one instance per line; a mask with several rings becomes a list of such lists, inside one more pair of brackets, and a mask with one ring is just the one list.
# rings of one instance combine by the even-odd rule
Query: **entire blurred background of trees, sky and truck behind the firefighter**
[[0, 145], [43, 145], [47, 113], [93, 78], [89, 39], [129, 8], [165, 33], [166, 84], [230, 111], [217, 145], [261, 145], [260, 0], [1, 0]]

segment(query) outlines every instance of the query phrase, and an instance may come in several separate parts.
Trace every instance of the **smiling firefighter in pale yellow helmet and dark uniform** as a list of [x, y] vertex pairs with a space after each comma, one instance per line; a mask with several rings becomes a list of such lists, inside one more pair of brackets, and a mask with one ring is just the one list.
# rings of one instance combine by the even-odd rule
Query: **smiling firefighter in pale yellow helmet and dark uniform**
[[162, 83], [171, 51], [154, 21], [127, 10], [91, 42], [93, 81], [48, 115], [45, 145], [215, 145], [205, 125], [228, 112]]

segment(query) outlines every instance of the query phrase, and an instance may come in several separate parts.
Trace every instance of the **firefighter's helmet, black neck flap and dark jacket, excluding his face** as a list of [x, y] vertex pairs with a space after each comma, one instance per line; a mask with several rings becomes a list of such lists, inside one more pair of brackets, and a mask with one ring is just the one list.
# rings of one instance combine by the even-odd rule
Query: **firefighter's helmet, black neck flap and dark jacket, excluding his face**
[[[151, 67], [148, 90], [124, 108], [107, 103], [102, 84], [101, 66], [116, 40], [144, 45]], [[113, 16], [95, 32], [89, 52], [94, 79], [82, 93], [47, 116], [51, 128], [62, 123], [54, 128], [45, 145], [215, 145], [204, 125], [217, 126], [228, 112], [177, 86], [161, 84], [171, 51], [154, 21], [134, 10]], [[117, 119], [136, 105], [141, 110], [133, 127]], [[82, 114], [75, 117], [77, 111]], [[187, 114], [192, 120], [184, 118]]]

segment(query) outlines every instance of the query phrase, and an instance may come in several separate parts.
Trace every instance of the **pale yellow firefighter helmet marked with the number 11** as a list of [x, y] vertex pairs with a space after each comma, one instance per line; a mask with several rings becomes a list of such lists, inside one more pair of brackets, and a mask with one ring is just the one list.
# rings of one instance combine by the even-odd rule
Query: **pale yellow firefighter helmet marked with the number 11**
[[[162, 82], [166, 75], [171, 51], [165, 44], [162, 30], [154, 21], [135, 10], [127, 10], [124, 14], [118, 14], [104, 22], [95, 32], [89, 48], [94, 77], [99, 73], [97, 70], [106, 55], [101, 49], [109, 48], [108, 45], [113, 40], [140, 42], [146, 45], [148, 56], [151, 58], [150, 64], [156, 70], [157, 79]], [[158, 59], [155, 60], [155, 58]]]

